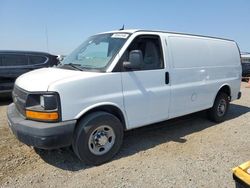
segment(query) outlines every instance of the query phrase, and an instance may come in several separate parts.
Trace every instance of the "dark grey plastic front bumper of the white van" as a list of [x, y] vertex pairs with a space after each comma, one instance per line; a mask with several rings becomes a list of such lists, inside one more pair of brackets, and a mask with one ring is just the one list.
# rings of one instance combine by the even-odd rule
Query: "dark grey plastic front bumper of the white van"
[[55, 149], [72, 144], [76, 120], [57, 123], [26, 120], [17, 112], [13, 103], [8, 106], [7, 117], [17, 139], [29, 146]]

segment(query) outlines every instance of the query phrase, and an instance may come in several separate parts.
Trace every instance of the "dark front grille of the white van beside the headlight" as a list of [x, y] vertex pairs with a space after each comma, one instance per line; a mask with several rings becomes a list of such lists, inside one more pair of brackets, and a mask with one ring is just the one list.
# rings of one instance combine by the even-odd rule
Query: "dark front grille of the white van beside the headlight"
[[25, 116], [25, 106], [26, 106], [26, 100], [28, 97], [28, 93], [15, 85], [13, 92], [12, 92], [12, 97], [13, 97], [13, 101], [16, 105], [17, 110], [23, 116]]

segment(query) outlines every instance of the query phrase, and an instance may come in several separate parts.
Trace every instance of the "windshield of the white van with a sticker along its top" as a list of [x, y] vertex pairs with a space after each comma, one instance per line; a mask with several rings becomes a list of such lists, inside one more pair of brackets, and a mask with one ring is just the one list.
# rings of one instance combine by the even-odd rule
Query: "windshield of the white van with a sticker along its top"
[[75, 66], [79, 70], [103, 70], [107, 68], [128, 37], [127, 33], [108, 33], [89, 37], [69, 54], [62, 64]]

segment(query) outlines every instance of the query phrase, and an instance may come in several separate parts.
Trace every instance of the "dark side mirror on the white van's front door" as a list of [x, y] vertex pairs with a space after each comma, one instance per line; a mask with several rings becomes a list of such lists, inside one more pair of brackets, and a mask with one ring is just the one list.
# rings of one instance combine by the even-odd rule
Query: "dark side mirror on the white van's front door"
[[142, 62], [143, 58], [141, 50], [132, 50], [129, 53], [129, 60], [123, 62], [123, 67], [130, 70], [141, 69]]

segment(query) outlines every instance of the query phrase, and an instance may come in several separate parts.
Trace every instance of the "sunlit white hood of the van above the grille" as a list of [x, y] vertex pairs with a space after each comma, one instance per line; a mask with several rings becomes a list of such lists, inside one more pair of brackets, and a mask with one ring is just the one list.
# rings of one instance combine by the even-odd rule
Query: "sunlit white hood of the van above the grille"
[[42, 68], [19, 76], [15, 84], [26, 91], [47, 91], [49, 85], [56, 81], [82, 74], [91, 74], [91, 72], [59, 68]]

